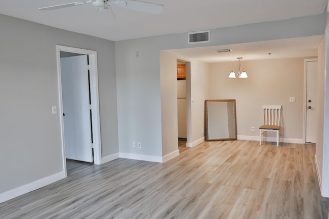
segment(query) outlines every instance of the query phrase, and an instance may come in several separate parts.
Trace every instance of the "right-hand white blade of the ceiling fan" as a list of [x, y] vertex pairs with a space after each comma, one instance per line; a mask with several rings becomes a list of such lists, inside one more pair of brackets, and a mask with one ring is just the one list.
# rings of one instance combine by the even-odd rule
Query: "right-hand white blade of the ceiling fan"
[[[111, 1], [112, 2], [112, 1]], [[117, 6], [121, 6], [123, 8], [147, 12], [151, 14], [159, 14], [163, 11], [163, 5], [148, 3], [148, 2], [140, 2], [135, 0], [124, 0], [124, 1], [113, 1]], [[126, 3], [126, 4], [122, 4]]]

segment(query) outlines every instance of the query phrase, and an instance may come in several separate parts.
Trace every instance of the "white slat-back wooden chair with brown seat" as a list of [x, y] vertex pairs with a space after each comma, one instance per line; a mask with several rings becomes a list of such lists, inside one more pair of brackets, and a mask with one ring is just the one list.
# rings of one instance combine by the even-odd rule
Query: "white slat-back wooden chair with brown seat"
[[260, 133], [259, 145], [262, 145], [264, 131], [271, 131], [277, 133], [277, 146], [279, 146], [280, 116], [281, 116], [281, 106], [274, 106], [274, 105], [263, 106], [263, 125], [259, 127], [259, 133]]

